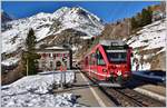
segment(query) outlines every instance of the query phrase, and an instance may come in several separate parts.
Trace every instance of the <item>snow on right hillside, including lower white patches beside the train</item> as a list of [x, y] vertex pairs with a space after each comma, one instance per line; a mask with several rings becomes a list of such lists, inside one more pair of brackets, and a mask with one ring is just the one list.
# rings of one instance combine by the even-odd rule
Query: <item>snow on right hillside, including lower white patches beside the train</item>
[[[149, 59], [153, 56], [158, 55], [159, 52], [165, 51], [166, 48], [166, 22], [167, 20], [163, 19], [156, 22], [153, 22], [151, 24], [145, 26], [141, 30], [137, 31], [136, 35], [130, 36], [130, 39], [127, 40], [127, 43], [135, 48], [145, 47], [143, 50], [153, 50], [156, 48], [163, 48], [160, 51], [156, 53], [147, 53], [144, 55], [144, 59]], [[126, 39], [124, 39], [126, 40]], [[138, 70], [147, 70], [150, 69], [149, 62], [144, 62], [141, 65], [140, 59], [141, 56], [138, 53], [138, 50], [134, 50], [134, 58], [137, 58], [139, 60]], [[136, 70], [137, 63], [132, 63], [132, 70]]]

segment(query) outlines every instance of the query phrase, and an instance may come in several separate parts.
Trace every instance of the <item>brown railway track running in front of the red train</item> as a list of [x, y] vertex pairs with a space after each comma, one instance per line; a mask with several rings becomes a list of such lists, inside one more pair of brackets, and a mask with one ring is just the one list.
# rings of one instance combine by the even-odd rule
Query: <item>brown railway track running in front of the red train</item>
[[[86, 73], [84, 73], [88, 77]], [[89, 77], [88, 77], [89, 78]], [[89, 78], [90, 79], [90, 78]], [[90, 79], [95, 85], [96, 81]], [[165, 107], [166, 104], [141, 95], [129, 88], [99, 87], [99, 89], [119, 107]]]

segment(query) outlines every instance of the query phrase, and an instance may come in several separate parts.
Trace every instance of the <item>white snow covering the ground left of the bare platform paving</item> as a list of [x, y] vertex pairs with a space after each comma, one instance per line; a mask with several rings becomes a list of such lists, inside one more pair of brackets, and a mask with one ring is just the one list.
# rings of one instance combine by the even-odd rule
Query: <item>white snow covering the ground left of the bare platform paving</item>
[[[75, 73], [68, 71], [66, 81], [72, 82]], [[36, 76], [23, 77], [20, 80], [1, 87], [2, 107], [77, 107], [72, 94], [51, 94], [52, 85], [60, 82], [60, 72], [42, 72]]]

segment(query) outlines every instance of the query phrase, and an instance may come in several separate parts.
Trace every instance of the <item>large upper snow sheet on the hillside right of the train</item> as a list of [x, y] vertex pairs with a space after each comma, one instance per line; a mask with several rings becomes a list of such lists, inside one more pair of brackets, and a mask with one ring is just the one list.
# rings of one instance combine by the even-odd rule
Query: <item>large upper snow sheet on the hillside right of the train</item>
[[131, 36], [132, 38], [127, 41], [132, 48], [144, 47], [146, 49], [155, 49], [166, 46], [166, 20], [156, 21], [151, 24], [144, 27]]

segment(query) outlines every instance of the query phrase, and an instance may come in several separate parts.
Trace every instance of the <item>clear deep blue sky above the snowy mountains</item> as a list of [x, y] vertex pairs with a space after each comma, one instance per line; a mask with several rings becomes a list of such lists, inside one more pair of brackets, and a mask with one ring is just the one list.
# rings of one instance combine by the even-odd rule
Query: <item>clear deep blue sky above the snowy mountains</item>
[[38, 12], [55, 12], [61, 7], [82, 7], [104, 22], [114, 22], [131, 17], [159, 1], [2, 1], [2, 9], [14, 18], [26, 18]]

